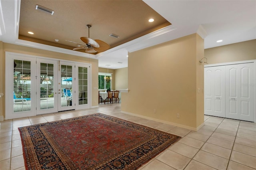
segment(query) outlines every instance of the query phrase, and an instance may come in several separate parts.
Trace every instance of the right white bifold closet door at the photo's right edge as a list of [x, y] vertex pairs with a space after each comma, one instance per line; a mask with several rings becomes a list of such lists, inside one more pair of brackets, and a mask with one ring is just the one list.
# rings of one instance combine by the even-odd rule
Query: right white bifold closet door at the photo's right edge
[[226, 65], [226, 118], [254, 121], [254, 63]]

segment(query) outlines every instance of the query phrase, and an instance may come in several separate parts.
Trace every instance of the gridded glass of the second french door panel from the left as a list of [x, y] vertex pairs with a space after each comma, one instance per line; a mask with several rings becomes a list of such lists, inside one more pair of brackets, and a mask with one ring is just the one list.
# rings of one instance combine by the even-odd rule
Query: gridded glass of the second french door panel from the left
[[54, 108], [54, 65], [40, 63], [40, 109]]

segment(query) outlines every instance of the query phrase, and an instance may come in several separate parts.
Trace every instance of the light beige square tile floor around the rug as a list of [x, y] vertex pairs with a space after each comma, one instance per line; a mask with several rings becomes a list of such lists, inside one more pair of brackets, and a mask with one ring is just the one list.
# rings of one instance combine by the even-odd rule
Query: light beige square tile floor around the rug
[[120, 104], [7, 120], [0, 123], [0, 169], [25, 170], [18, 127], [103, 113], [182, 136], [140, 170], [256, 169], [256, 123], [204, 116], [197, 132], [121, 113]]

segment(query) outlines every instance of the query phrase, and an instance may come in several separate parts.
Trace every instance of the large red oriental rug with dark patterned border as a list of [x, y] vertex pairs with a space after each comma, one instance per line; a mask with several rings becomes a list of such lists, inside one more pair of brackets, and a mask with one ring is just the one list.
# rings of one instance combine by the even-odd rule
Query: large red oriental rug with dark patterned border
[[27, 170], [135, 170], [181, 138], [101, 113], [18, 129]]

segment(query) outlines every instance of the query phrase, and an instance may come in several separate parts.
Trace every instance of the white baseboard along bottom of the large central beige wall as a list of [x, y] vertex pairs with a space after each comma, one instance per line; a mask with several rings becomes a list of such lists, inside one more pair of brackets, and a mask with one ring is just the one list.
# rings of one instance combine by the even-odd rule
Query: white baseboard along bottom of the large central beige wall
[[178, 123], [172, 123], [172, 122], [168, 122], [168, 121], [163, 121], [163, 120], [160, 120], [160, 119], [155, 119], [155, 118], [152, 118], [152, 117], [146, 117], [146, 116], [142, 116], [142, 115], [136, 115], [134, 113], [129, 113], [129, 112], [125, 112], [125, 111], [121, 111], [122, 113], [126, 113], [128, 115], [133, 115], [133, 116], [137, 116], [137, 117], [141, 117], [141, 118], [145, 118], [145, 119], [149, 119], [149, 120], [152, 120], [152, 121], [157, 121], [157, 122], [160, 122], [160, 123], [166, 123], [168, 125], [172, 125], [172, 126], [176, 126], [176, 127], [180, 127], [180, 128], [186, 128], [188, 130], [193, 130], [193, 131], [197, 131], [199, 130], [202, 126], [204, 126], [204, 123], [202, 123], [202, 125], [200, 125], [199, 127], [197, 128], [194, 128], [194, 127], [189, 127], [189, 126], [186, 126], [186, 125], [180, 125]]

